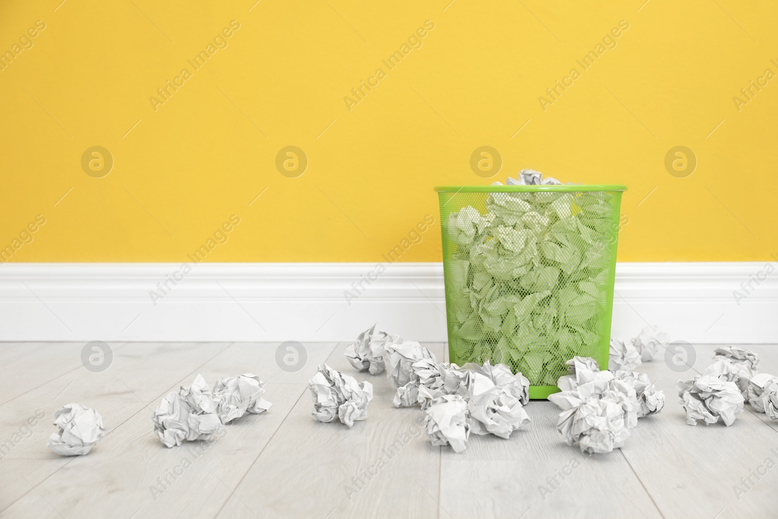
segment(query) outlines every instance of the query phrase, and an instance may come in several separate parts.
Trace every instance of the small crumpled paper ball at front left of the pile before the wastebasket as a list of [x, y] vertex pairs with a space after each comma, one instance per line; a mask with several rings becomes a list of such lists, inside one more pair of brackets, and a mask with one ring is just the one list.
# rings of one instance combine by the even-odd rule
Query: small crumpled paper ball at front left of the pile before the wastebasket
[[433, 445], [450, 445], [455, 452], [462, 452], [470, 437], [468, 402], [460, 395], [443, 395], [436, 398], [424, 417], [424, 428]]

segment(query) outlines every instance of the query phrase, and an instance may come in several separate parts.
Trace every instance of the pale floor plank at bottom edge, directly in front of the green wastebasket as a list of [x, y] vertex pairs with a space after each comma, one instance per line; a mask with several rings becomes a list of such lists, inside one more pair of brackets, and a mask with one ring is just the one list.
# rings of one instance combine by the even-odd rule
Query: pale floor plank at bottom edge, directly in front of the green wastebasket
[[471, 436], [464, 453], [443, 449], [440, 517], [661, 517], [619, 451], [590, 457], [564, 444], [551, 402], [527, 412], [531, 425], [508, 440]]

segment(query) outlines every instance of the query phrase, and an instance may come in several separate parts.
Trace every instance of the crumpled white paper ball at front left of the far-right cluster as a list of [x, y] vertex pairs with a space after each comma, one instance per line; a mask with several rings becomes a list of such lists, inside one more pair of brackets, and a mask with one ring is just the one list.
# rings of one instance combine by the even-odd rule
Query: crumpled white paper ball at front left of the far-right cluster
[[678, 402], [686, 411], [686, 423], [696, 426], [698, 420], [707, 425], [719, 419], [731, 426], [743, 412], [743, 395], [734, 382], [715, 375], [701, 375], [692, 380], [678, 380]]

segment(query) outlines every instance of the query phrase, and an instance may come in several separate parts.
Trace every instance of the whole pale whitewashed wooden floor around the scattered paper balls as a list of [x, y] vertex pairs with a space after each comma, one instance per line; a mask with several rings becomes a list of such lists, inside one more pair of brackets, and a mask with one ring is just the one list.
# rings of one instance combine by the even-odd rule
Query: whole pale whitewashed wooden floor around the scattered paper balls
[[[728, 428], [685, 424], [673, 384], [710, 363], [711, 345], [696, 346], [696, 371], [679, 375], [661, 359], [640, 366], [668, 405], [640, 419], [626, 447], [591, 457], [562, 444], [549, 402], [531, 402], [531, 426], [510, 440], [473, 436], [462, 454], [433, 447], [424, 433], [412, 437], [422, 412], [394, 409], [390, 381], [355, 373], [345, 344], [307, 344], [296, 373], [276, 365], [276, 344], [114, 344], [103, 373], [81, 365], [82, 346], [0, 344], [0, 444], [46, 413], [0, 460], [2, 517], [778, 517], [778, 467], [760, 468], [778, 462], [778, 423], [746, 405]], [[443, 344], [428, 346], [445, 358]], [[762, 372], [778, 374], [778, 345], [749, 347]], [[375, 388], [368, 419], [351, 430], [310, 416], [307, 380], [324, 361]], [[163, 395], [197, 373], [213, 384], [247, 371], [268, 381], [268, 413], [238, 420], [198, 458], [189, 444], [159, 443], [150, 417]], [[54, 411], [68, 402], [97, 409], [113, 428], [87, 456], [46, 447]], [[388, 458], [384, 448], [404, 434], [408, 444]], [[386, 466], [366, 479], [382, 455]], [[155, 499], [149, 487], [184, 458], [191, 466]], [[539, 486], [552, 489], [546, 479], [573, 460], [580, 466], [543, 495]], [[734, 486], [749, 476], [738, 500]], [[359, 477], [366, 484], [349, 499], [345, 487]]]

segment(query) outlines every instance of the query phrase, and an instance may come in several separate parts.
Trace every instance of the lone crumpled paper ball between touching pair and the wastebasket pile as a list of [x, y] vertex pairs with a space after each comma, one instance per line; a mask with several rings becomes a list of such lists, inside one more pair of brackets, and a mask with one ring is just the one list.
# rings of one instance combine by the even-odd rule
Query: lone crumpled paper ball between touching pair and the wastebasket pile
[[308, 382], [308, 389], [314, 398], [311, 414], [319, 422], [331, 422], [338, 416], [341, 423], [352, 427], [356, 420], [367, 418], [367, 404], [373, 400], [373, 384], [358, 383], [324, 363]]

